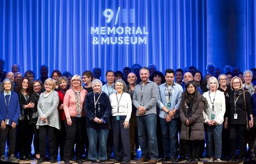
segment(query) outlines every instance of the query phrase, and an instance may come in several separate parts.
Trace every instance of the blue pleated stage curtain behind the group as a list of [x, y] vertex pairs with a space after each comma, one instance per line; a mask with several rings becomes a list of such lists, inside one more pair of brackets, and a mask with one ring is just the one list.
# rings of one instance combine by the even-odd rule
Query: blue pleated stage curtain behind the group
[[[247, 31], [247, 36], [253, 33], [247, 40], [250, 58], [255, 55], [255, 3], [246, 2], [247, 24], [253, 24]], [[110, 23], [105, 9], [113, 11]], [[6, 61], [6, 71], [18, 63], [21, 72], [32, 69], [36, 76], [41, 64], [47, 64], [49, 72], [59, 69], [73, 75], [99, 66], [104, 76], [108, 69], [122, 71], [134, 63], [154, 63], [160, 71], [196, 66], [204, 74], [210, 62], [206, 10], [206, 0], [1, 0], [0, 58]], [[91, 27], [97, 26], [145, 26], [147, 44], [94, 45]]]

